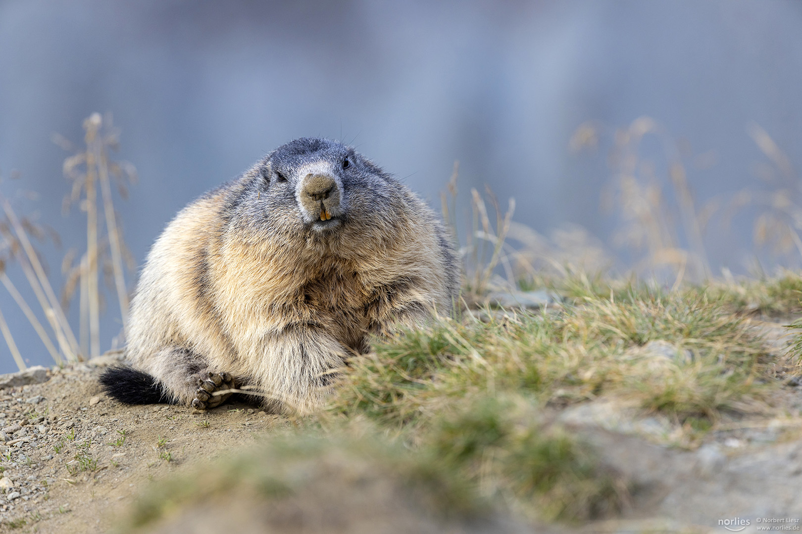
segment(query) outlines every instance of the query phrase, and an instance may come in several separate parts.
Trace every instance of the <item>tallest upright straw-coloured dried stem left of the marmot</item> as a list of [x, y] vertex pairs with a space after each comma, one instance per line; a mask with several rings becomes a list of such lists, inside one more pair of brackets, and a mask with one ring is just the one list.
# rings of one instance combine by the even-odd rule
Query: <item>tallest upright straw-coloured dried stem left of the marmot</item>
[[100, 299], [98, 291], [98, 212], [97, 190], [95, 189], [95, 153], [91, 150], [100, 126], [92, 115], [84, 121], [87, 129], [87, 178], [83, 184], [86, 191], [87, 210], [87, 257], [88, 257], [88, 297], [89, 297], [89, 354], [92, 358], [100, 355]]

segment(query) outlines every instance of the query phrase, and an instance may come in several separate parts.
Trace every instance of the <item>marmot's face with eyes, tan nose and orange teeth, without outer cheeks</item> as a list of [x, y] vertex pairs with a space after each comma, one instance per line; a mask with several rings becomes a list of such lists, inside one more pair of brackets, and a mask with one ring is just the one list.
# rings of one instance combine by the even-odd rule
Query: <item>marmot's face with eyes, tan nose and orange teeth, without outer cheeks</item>
[[387, 208], [388, 177], [353, 148], [328, 139], [296, 139], [257, 167], [258, 203], [274, 229], [319, 234], [375, 220]]

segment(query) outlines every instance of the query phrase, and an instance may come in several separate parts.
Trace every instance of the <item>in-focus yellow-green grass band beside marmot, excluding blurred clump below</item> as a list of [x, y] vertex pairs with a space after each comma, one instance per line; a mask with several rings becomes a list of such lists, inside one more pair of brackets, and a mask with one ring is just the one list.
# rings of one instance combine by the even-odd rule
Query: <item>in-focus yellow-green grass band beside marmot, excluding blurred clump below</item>
[[[747, 319], [704, 293], [632, 296], [407, 331], [351, 363], [333, 409], [399, 428], [476, 391], [526, 391], [560, 405], [610, 394], [681, 423], [761, 397], [771, 356]], [[640, 355], [650, 342], [676, 357]]]

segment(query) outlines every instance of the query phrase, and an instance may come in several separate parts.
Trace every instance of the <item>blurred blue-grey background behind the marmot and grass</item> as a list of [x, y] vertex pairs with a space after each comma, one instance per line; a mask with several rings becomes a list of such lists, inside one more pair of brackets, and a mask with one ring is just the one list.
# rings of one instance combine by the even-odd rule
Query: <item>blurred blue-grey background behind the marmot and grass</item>
[[[87, 247], [86, 214], [63, 214], [63, 161], [93, 112], [113, 115], [110, 157], [138, 176], [114, 194], [128, 291], [176, 211], [312, 135], [354, 144], [437, 209], [459, 161], [458, 227], [487, 185], [502, 211], [514, 197], [516, 223], [602, 250], [605, 268], [760, 275], [802, 257], [800, 86], [791, 0], [6, 0], [0, 192], [58, 231], [60, 248], [36, 244], [56, 292], [65, 252]], [[106, 350], [122, 319], [103, 287]], [[52, 363], [5, 290], [0, 310], [26, 363]], [[76, 337], [78, 316], [75, 297]]]

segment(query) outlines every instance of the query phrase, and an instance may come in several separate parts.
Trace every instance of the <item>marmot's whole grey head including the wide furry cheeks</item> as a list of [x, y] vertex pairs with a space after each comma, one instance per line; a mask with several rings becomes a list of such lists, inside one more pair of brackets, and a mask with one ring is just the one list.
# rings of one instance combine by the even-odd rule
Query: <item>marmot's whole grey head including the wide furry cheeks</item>
[[330, 139], [295, 139], [244, 178], [249, 187], [234, 202], [252, 228], [334, 239], [366, 227], [388, 235], [403, 220], [403, 186]]

